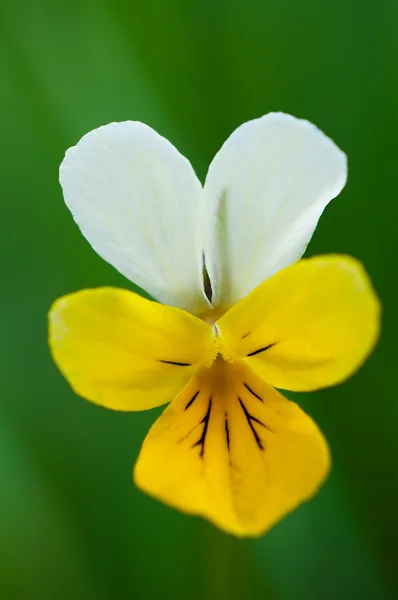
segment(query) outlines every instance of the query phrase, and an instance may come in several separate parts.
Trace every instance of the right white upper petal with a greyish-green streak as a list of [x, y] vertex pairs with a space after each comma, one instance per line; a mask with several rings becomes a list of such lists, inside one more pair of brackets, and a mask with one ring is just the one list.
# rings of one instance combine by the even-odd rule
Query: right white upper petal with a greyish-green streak
[[270, 113], [239, 127], [205, 184], [213, 304], [235, 304], [299, 259], [346, 178], [345, 154], [308, 121]]

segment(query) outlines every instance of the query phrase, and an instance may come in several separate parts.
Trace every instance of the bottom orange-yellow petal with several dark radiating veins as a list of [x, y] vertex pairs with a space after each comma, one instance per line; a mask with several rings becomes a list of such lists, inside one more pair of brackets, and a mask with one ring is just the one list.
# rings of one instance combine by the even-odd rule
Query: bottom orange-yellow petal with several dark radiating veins
[[134, 476], [171, 506], [257, 536], [312, 496], [328, 470], [310, 417], [243, 363], [218, 359], [156, 421]]

